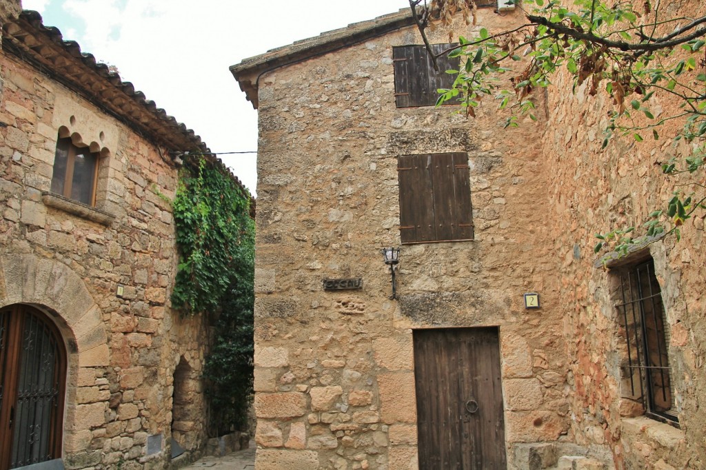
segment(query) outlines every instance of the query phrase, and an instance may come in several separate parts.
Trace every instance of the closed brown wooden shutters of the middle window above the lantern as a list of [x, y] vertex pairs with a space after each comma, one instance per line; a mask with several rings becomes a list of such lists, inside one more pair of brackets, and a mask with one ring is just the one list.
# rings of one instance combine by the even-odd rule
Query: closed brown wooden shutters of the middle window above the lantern
[[397, 171], [402, 243], [473, 239], [466, 153], [401, 155]]

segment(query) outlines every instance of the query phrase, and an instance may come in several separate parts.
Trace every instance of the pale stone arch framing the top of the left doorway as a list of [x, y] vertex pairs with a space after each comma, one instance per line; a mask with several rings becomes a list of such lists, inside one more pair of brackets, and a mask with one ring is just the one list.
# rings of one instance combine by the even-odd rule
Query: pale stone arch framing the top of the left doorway
[[[109, 365], [108, 337], [100, 307], [83, 279], [56, 260], [32, 254], [0, 255], [0, 307], [28, 303], [58, 313], [68, 351], [78, 367]], [[56, 317], [56, 315], [54, 315]]]

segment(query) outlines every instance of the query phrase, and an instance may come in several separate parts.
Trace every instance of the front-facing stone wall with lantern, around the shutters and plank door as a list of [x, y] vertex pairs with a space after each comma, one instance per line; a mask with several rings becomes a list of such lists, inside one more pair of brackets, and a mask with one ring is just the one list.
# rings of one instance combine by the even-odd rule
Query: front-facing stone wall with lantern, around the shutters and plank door
[[[457, 32], [521, 20], [484, 8]], [[492, 100], [477, 119], [397, 109], [404, 44], [421, 44], [415, 28], [259, 80], [258, 469], [416, 468], [412, 330], [427, 327], [499, 326], [511, 468], [520, 443], [570, 440], [544, 124], [505, 130]], [[379, 250], [400, 244], [397, 156], [425, 152], [468, 153], [475, 239], [402, 246], [393, 301]], [[323, 291], [349, 277], [363, 288]]]

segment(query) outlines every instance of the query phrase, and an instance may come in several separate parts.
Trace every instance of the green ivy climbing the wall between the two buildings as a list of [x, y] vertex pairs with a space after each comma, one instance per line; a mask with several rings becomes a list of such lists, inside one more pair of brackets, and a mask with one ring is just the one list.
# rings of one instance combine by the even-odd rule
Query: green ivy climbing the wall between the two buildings
[[255, 226], [250, 194], [220, 161], [192, 155], [174, 199], [179, 267], [172, 306], [208, 315], [215, 338], [203, 376], [210, 434], [244, 429], [253, 378]]

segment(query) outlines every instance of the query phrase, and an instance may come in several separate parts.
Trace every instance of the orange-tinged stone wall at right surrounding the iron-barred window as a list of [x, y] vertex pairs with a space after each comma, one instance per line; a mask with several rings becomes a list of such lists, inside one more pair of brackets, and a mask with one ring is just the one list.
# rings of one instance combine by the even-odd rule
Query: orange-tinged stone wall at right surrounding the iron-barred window
[[[690, 11], [703, 15], [699, 1], [671, 2], [665, 16]], [[702, 71], [702, 70], [701, 70]], [[571, 382], [571, 421], [577, 442], [608, 443], [614, 449], [618, 468], [700, 468], [704, 462], [703, 433], [706, 396], [702, 358], [706, 353], [703, 338], [706, 324], [706, 282], [703, 266], [703, 212], [682, 227], [682, 241], [674, 236], [652, 243], [647, 248], [662, 289], [666, 310], [669, 361], [673, 373], [681, 429], [658, 421], [635, 417], [642, 409], [625, 399], [621, 385], [621, 355], [625, 355], [624, 331], [614, 308], [617, 299], [612, 283], [614, 271], [594, 267], [594, 234], [610, 229], [638, 227], [653, 210], [666, 208], [678, 185], [692, 177], [666, 179], [661, 162], [690, 154], [686, 143], [674, 145], [678, 124], [668, 123], [651, 137], [636, 143], [628, 136], [615, 136], [601, 150], [602, 131], [608, 124], [606, 113], [613, 108], [609, 97], [588, 95], [585, 86], [575, 95], [566, 76], [556, 80], [549, 92], [549, 123], [543, 139], [549, 165], [549, 207], [556, 237], [552, 243], [558, 265], [561, 290], [558, 299], [563, 311], [563, 333], [567, 338]], [[628, 98], [630, 99], [630, 98]], [[668, 116], [678, 105], [674, 97], [657, 93], [652, 111]], [[638, 123], [640, 123], [638, 119]], [[702, 175], [702, 173], [701, 173]], [[696, 179], [699, 176], [696, 175]], [[702, 181], [702, 176], [701, 176]], [[575, 255], [578, 253], [578, 255]], [[628, 256], [626, 263], [634, 260]], [[622, 387], [622, 388], [621, 388]]]

